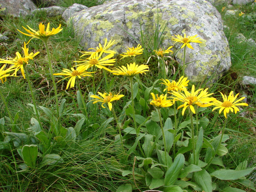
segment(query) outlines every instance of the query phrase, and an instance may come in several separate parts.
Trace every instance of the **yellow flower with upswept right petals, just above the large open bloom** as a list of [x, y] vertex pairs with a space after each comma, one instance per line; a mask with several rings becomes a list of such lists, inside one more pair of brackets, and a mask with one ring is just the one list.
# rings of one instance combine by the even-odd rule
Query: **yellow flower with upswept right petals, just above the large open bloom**
[[161, 79], [163, 81], [163, 83], [160, 83], [160, 84], [164, 84], [166, 85], [166, 88], [164, 89], [168, 91], [168, 93], [171, 93], [171, 91], [176, 91], [176, 92], [180, 92], [181, 90], [183, 90], [183, 87], [186, 87], [188, 86], [188, 82], [189, 80], [187, 80], [188, 77], [185, 77], [184, 76], [181, 76], [179, 81], [176, 82], [174, 80], [172, 80], [172, 82], [170, 82], [168, 79]]

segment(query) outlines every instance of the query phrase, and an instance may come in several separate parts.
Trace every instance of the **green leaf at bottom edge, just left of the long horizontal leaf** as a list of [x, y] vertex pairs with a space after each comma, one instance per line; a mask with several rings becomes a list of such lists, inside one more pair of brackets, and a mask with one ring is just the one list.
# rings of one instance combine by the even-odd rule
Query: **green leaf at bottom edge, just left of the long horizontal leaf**
[[194, 178], [196, 183], [205, 191], [205, 192], [212, 192], [212, 178], [210, 174], [205, 170], [202, 169], [201, 171], [194, 172]]

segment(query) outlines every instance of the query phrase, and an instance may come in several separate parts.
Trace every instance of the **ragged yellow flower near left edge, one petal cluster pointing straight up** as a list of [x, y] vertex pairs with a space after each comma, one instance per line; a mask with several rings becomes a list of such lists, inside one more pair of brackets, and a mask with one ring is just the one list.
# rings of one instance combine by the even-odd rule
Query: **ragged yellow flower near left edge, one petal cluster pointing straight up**
[[36, 52], [36, 53], [31, 52], [28, 54], [28, 48], [26, 47], [25, 42], [24, 42], [24, 47], [22, 47], [22, 49], [24, 52], [24, 57], [22, 57], [20, 55], [20, 52], [16, 52], [16, 57], [14, 59], [10, 59], [10, 60], [0, 59], [0, 63], [12, 64], [10, 69], [12, 69], [12, 68], [15, 69], [13, 74], [15, 74], [15, 76], [16, 76], [17, 71], [20, 69], [22, 76], [24, 77], [24, 79], [26, 79], [23, 65], [28, 64], [28, 60], [30, 60], [30, 59], [33, 60], [33, 58], [40, 52]]

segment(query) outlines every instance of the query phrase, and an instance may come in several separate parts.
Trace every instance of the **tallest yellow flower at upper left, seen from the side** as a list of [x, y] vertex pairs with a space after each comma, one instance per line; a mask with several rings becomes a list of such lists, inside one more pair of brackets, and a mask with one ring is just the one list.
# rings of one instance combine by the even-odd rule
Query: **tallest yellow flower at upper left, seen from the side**
[[[55, 35], [55, 34], [57, 34], [57, 33], [59, 33], [62, 29], [60, 28], [60, 26], [61, 25], [59, 25], [59, 27], [58, 28], [52, 28], [52, 30], [50, 31], [50, 23], [48, 23], [47, 24], [47, 27], [46, 27], [46, 30], [44, 30], [44, 25], [42, 24], [42, 23], [40, 23], [39, 24], [39, 30], [38, 31], [36, 31], [36, 30], [34, 30], [34, 29], [32, 29], [32, 28], [30, 28], [28, 25], [27, 25], [27, 27], [29, 28], [29, 29], [27, 29], [27, 28], [25, 28], [25, 27], [23, 27], [29, 34], [27, 34], [27, 33], [24, 33], [24, 32], [22, 32], [22, 31], [20, 31], [19, 29], [17, 29], [18, 31], [20, 31], [20, 33], [22, 33], [22, 34], [24, 34], [24, 35], [26, 35], [26, 36], [30, 36], [30, 37], [32, 37], [31, 39], [33, 39], [33, 38], [37, 38], [37, 39], [42, 39], [43, 41], [47, 41], [47, 39], [50, 37], [50, 36], [52, 36], [52, 35]], [[30, 39], [30, 40], [31, 40]], [[30, 41], [29, 40], [29, 41]]]

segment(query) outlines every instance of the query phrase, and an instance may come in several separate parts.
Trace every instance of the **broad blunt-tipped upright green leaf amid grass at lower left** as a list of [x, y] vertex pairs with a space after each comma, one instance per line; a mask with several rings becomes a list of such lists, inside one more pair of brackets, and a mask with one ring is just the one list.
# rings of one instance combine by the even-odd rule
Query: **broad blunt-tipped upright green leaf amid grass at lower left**
[[24, 145], [21, 149], [23, 161], [28, 167], [36, 166], [36, 158], [38, 155], [37, 145]]

